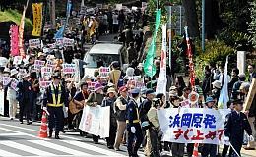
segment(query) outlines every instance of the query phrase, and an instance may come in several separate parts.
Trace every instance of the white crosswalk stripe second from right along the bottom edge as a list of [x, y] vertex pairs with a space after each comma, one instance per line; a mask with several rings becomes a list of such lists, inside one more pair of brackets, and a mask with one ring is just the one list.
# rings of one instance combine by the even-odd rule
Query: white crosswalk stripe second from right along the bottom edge
[[41, 140], [29, 140], [29, 141], [32, 142], [32, 143], [44, 146], [44, 147], [48, 147], [48, 148], [51, 148], [51, 149], [62, 151], [64, 153], [68, 153], [68, 154], [71, 154], [71, 155], [83, 155], [83, 156], [90, 156], [91, 155], [91, 154], [88, 154], [88, 153], [84, 153], [82, 151], [70, 149], [68, 147], [57, 145], [57, 144], [47, 142], [47, 141], [41, 141]]

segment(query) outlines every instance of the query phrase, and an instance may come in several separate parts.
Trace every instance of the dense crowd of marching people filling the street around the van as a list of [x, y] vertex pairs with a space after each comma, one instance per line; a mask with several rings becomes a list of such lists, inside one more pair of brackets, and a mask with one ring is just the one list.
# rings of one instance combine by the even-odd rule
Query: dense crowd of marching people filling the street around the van
[[[167, 70], [167, 94], [155, 94], [156, 80], [160, 72], [160, 57], [156, 58], [154, 63], [157, 67], [157, 74], [154, 78], [149, 78], [144, 75], [143, 64], [140, 63], [143, 58], [142, 48], [144, 42], [144, 33], [139, 33], [134, 36], [133, 27], [137, 26], [137, 22], [141, 20], [137, 12], [124, 15], [123, 11], [114, 12], [99, 12], [98, 15], [83, 17], [82, 19], [82, 35], [78, 39], [78, 43], [87, 44], [86, 42], [95, 42], [91, 40], [94, 35], [100, 37], [108, 33], [120, 33], [117, 38], [124, 46], [127, 47], [127, 63], [125, 69], [118, 61], [113, 61], [110, 67], [110, 72], [107, 77], [102, 77], [99, 73], [95, 76], [84, 74], [83, 66], [79, 66], [79, 81], [76, 81], [72, 75], [63, 73], [63, 63], [74, 63], [76, 60], [81, 60], [83, 52], [79, 45], [74, 49], [71, 47], [61, 50], [55, 47], [47, 52], [42, 52], [42, 49], [30, 49], [27, 58], [21, 64], [15, 65], [11, 57], [6, 67], [2, 68], [2, 77], [9, 77], [8, 83], [3, 83], [5, 90], [7, 108], [9, 113], [6, 116], [10, 120], [16, 118], [17, 109], [19, 106], [19, 121], [24, 123], [26, 118], [27, 124], [30, 125], [34, 121], [41, 118], [42, 110], [48, 110], [50, 115], [55, 117], [50, 118], [50, 132], [52, 135], [53, 128], [57, 133], [55, 138], [59, 139], [59, 131], [71, 131], [78, 129], [74, 120], [79, 120], [82, 110], [77, 114], [73, 114], [69, 108], [69, 102], [83, 108], [85, 105], [96, 107], [110, 106], [110, 130], [109, 137], [106, 138], [107, 147], [116, 151], [122, 149], [121, 145], [127, 144], [128, 154], [131, 157], [138, 156], [138, 150], [143, 148], [146, 156], [158, 157], [166, 152], [171, 152], [172, 156], [192, 156], [194, 144], [171, 143], [161, 141], [162, 132], [158, 121], [157, 111], [160, 108], [209, 108], [218, 109], [217, 103], [220, 97], [220, 92], [224, 84], [224, 66], [206, 66], [203, 81], [195, 80], [195, 88], [191, 88], [189, 83], [181, 76], [175, 76], [172, 80], [169, 76], [170, 70]], [[69, 36], [70, 34], [66, 34]], [[49, 47], [46, 47], [49, 48]], [[49, 48], [50, 49], [50, 48]], [[63, 53], [62, 53], [63, 52]], [[72, 52], [72, 53], [71, 53]], [[34, 68], [35, 60], [47, 61], [51, 60], [54, 63], [52, 69], [52, 81], [48, 87], [40, 86], [39, 78], [40, 71]], [[83, 63], [81, 63], [83, 64]], [[24, 71], [25, 70], [25, 71]], [[86, 73], [86, 72], [85, 72]], [[143, 78], [144, 87], [138, 88], [130, 83], [130, 80], [140, 76]], [[254, 65], [248, 65], [248, 75], [239, 73], [237, 68], [232, 69], [228, 78], [228, 91], [230, 101], [228, 108], [240, 113], [242, 104], [249, 92], [251, 82], [256, 77]], [[18, 81], [16, 88], [11, 85], [12, 82]], [[93, 88], [89, 84], [95, 82]], [[58, 87], [61, 88], [58, 89]], [[199, 99], [196, 105], [191, 105], [189, 94], [196, 91], [199, 94]], [[57, 94], [58, 93], [58, 94]], [[61, 93], [61, 98], [51, 98]], [[245, 149], [255, 149], [254, 138], [255, 131], [255, 116], [256, 116], [256, 100], [255, 96], [251, 107], [245, 114], [241, 113], [237, 118], [242, 125], [239, 127], [233, 126], [232, 123], [237, 123], [236, 120], [227, 119], [225, 123], [226, 145], [224, 146], [222, 156], [227, 155], [228, 142], [231, 142], [235, 150], [240, 153], [241, 146], [247, 144]], [[9, 101], [9, 102], [8, 102]], [[55, 110], [58, 106], [58, 110]], [[50, 104], [50, 105], [49, 105]], [[61, 109], [61, 110], [59, 110]], [[138, 110], [138, 113], [136, 112]], [[80, 115], [80, 116], [79, 116]], [[230, 116], [229, 116], [230, 117]], [[52, 123], [54, 118], [58, 119], [58, 125]], [[248, 119], [248, 120], [247, 120]], [[231, 121], [231, 122], [229, 122]], [[234, 121], [234, 122], [232, 122]], [[248, 123], [247, 123], [248, 122]], [[236, 127], [236, 128], [235, 128]], [[233, 136], [234, 131], [239, 131], [239, 134]], [[244, 135], [246, 130], [248, 135]], [[231, 134], [231, 135], [230, 135]], [[242, 136], [242, 137], [240, 137]], [[244, 138], [245, 136], [245, 138]], [[234, 138], [239, 139], [234, 139]], [[93, 141], [99, 142], [99, 136], [93, 135]], [[134, 144], [134, 141], [135, 144]], [[186, 149], [185, 149], [186, 148]], [[218, 155], [218, 146], [214, 144], [202, 144], [200, 152], [202, 156]], [[235, 155], [233, 148], [229, 148], [229, 155]]]

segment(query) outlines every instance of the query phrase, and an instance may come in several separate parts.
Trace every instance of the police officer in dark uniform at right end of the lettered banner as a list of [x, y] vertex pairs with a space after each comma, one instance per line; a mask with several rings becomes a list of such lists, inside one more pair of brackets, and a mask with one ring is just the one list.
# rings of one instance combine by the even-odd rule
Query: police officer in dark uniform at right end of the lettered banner
[[240, 151], [243, 143], [244, 130], [250, 135], [250, 141], [254, 140], [248, 119], [246, 115], [241, 112], [243, 109], [242, 105], [242, 100], [234, 100], [234, 110], [226, 115], [224, 124], [224, 142], [225, 145], [231, 144], [233, 147], [229, 151], [229, 156], [238, 156], [233, 149], [235, 149], [239, 156], [241, 156]]

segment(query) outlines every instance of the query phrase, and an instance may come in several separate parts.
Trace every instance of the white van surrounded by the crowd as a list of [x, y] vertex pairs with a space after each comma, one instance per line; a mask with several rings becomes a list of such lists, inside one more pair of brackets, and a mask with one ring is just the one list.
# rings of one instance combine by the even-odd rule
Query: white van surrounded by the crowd
[[126, 49], [122, 44], [98, 43], [94, 45], [85, 55], [84, 66], [85, 76], [94, 76], [95, 71], [100, 67], [101, 60], [103, 67], [108, 67], [113, 61], [119, 61], [121, 67], [124, 64]]

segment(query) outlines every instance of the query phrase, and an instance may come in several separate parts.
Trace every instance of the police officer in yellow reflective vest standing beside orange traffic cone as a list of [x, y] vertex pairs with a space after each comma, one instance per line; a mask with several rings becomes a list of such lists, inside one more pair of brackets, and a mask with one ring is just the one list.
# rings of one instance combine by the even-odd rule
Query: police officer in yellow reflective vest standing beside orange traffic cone
[[55, 127], [55, 138], [59, 139], [59, 131], [62, 131], [64, 113], [63, 105], [68, 110], [68, 96], [65, 87], [60, 83], [60, 74], [53, 75], [52, 83], [46, 88], [43, 98], [43, 110], [49, 113], [49, 138], [52, 137]]

